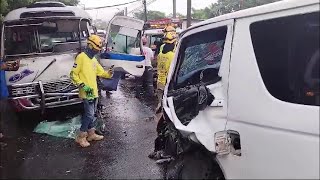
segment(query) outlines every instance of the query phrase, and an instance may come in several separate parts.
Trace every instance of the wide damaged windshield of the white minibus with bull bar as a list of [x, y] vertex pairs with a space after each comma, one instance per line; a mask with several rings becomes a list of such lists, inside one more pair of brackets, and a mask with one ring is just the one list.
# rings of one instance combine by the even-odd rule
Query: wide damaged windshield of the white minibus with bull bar
[[[43, 21], [38, 24], [5, 27], [5, 54], [28, 55], [34, 53], [61, 53], [79, 48], [78, 20]], [[87, 22], [84, 22], [83, 27]], [[81, 32], [81, 40], [89, 36]]]

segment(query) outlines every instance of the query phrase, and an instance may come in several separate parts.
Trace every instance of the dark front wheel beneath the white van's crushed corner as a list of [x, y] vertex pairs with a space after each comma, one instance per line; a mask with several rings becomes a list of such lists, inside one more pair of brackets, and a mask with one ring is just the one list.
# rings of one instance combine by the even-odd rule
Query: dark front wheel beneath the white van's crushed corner
[[182, 155], [167, 165], [166, 179], [224, 179], [219, 165], [201, 152]]

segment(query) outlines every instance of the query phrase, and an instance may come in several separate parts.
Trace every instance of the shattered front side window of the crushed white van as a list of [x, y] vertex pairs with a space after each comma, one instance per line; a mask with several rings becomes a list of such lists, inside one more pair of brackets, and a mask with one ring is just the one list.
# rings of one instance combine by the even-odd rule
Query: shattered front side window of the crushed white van
[[219, 27], [191, 35], [182, 41], [175, 88], [216, 82], [227, 27]]

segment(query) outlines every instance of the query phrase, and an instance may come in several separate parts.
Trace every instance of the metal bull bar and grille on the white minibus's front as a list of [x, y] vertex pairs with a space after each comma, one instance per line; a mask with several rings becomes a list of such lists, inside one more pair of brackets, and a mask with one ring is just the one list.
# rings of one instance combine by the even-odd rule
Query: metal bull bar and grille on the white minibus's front
[[8, 86], [16, 111], [42, 110], [82, 103], [78, 88], [69, 79]]

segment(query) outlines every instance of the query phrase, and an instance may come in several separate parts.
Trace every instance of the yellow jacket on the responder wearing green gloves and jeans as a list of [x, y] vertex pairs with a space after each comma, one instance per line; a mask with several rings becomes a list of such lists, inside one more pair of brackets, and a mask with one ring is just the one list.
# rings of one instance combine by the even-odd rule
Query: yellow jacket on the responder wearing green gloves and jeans
[[[76, 62], [70, 72], [70, 78], [76, 86], [84, 83], [93, 88], [93, 95], [98, 97], [97, 76], [103, 78], [111, 78], [111, 74], [106, 72], [94, 57], [90, 59], [84, 52], [76, 57]], [[86, 99], [87, 95], [82, 88], [79, 89], [79, 96]]]

